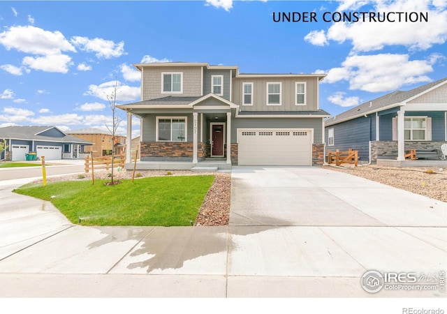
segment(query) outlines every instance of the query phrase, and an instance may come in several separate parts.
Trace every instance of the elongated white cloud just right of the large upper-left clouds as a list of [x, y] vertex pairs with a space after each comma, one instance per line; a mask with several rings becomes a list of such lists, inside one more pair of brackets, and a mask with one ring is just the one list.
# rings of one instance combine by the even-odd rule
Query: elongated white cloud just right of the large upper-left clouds
[[125, 54], [124, 41], [114, 43], [112, 40], [102, 38], [89, 39], [87, 37], [74, 36], [71, 38], [71, 43], [79, 47], [80, 50], [95, 52], [98, 58], [117, 58]]

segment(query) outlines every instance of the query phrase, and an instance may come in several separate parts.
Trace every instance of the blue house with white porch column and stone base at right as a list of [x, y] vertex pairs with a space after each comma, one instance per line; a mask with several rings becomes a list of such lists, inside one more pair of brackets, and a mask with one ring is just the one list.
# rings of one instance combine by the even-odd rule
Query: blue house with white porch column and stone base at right
[[403, 164], [410, 149], [416, 149], [418, 160], [439, 160], [446, 142], [447, 77], [394, 91], [325, 120], [326, 151], [352, 148], [360, 163]]

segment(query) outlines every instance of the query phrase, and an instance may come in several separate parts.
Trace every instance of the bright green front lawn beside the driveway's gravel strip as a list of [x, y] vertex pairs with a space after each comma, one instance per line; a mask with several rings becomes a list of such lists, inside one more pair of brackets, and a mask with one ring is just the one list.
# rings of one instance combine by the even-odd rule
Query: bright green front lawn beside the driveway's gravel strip
[[149, 177], [27, 184], [15, 193], [50, 200], [72, 223], [81, 225], [191, 225], [214, 176]]

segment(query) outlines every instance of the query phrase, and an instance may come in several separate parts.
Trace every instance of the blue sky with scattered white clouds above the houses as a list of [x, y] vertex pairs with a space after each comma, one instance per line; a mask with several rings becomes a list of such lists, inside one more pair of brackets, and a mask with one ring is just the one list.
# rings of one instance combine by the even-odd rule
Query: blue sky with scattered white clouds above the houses
[[[322, 19], [357, 11], [428, 12], [429, 21]], [[276, 23], [274, 12], [314, 12], [317, 22]], [[104, 128], [115, 80], [118, 103], [138, 101], [132, 64], [154, 61], [327, 73], [320, 107], [338, 114], [446, 77], [446, 40], [447, 0], [0, 1], [0, 126]]]

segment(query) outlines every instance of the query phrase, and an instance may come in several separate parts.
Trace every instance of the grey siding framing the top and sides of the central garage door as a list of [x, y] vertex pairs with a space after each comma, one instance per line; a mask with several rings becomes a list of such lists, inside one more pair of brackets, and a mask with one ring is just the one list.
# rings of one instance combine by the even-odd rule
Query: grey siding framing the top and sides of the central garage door
[[313, 129], [314, 144], [321, 144], [322, 118], [233, 118], [231, 120], [231, 142], [237, 142], [237, 128], [303, 128]]

